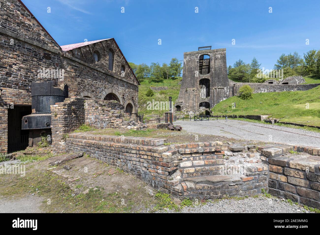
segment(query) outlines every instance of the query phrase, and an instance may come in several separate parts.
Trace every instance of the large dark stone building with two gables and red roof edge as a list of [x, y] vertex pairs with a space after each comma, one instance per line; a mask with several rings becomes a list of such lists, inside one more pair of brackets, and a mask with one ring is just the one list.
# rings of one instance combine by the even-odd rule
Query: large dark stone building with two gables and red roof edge
[[0, 19], [0, 153], [28, 146], [21, 118], [32, 113], [32, 82], [137, 112], [139, 82], [114, 38], [60, 46], [20, 0], [0, 0]]

